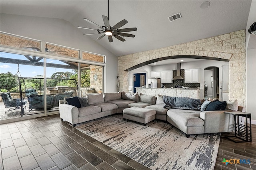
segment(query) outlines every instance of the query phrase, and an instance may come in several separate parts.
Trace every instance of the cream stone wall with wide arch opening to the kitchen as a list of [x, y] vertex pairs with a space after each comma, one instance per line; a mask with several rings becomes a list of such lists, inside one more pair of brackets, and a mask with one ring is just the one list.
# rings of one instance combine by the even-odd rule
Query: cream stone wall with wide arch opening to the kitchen
[[118, 57], [120, 90], [128, 91], [128, 71], [124, 71], [152, 59], [177, 56], [199, 55], [229, 59], [229, 99], [237, 99], [245, 106], [246, 100], [246, 48], [245, 30], [231, 32], [212, 38], [182, 43], [169, 47], [142, 51]]

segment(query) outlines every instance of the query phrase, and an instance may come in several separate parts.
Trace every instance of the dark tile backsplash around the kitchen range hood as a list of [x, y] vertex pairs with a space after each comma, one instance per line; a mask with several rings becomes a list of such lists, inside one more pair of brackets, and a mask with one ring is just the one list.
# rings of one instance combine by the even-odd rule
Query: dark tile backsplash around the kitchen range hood
[[[173, 77], [175, 77], [177, 75], [177, 71], [174, 70], [173, 71]], [[180, 70], [180, 75], [181, 77], [185, 77], [185, 71], [184, 69]], [[200, 87], [200, 83], [184, 83], [184, 80], [173, 80], [173, 83], [162, 83], [162, 85], [164, 85], [166, 88], [175, 88], [175, 86], [185, 86], [185, 87], [189, 87], [192, 89], [196, 89], [198, 87]]]

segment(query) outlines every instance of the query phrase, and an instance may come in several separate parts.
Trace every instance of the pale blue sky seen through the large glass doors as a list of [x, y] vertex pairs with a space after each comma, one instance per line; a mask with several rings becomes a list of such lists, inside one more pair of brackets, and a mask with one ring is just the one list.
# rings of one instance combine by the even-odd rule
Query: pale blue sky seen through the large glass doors
[[[20, 54], [0, 52], [0, 61], [1, 61], [2, 57], [9, 58], [9, 59], [21, 59], [21, 60], [28, 61], [28, 59], [24, 55], [20, 55]], [[44, 59], [41, 59], [39, 62], [44, 62]], [[55, 59], [47, 59], [47, 62], [67, 65], [66, 63], [63, 63], [62, 61], [58, 61]], [[0, 62], [0, 73], [7, 73], [8, 71], [10, 71], [13, 75], [16, 75], [17, 71], [18, 71], [18, 64]], [[66, 72], [66, 71], [72, 72], [71, 69], [47, 67], [46, 77], [51, 77], [52, 74], [56, 73], [56, 72]], [[44, 67], [19, 64], [19, 72], [20, 72], [21, 77], [34, 77], [37, 75], [44, 75]]]

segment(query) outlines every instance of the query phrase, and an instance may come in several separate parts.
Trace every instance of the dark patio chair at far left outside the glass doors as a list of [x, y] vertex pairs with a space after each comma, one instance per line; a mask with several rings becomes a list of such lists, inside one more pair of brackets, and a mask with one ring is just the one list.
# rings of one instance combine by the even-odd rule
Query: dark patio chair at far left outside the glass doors
[[[12, 107], [8, 111], [12, 111], [12, 110], [20, 108], [20, 105], [21, 105], [21, 103], [20, 103], [21, 100], [20, 99], [12, 99], [12, 96], [9, 92], [1, 93], [0, 95], [2, 97], [2, 100], [4, 102], [5, 107]], [[27, 103], [26, 100], [22, 100], [22, 105], [25, 105], [26, 103]], [[24, 107], [26, 109], [26, 106], [24, 106]], [[5, 111], [5, 114], [8, 111]]]

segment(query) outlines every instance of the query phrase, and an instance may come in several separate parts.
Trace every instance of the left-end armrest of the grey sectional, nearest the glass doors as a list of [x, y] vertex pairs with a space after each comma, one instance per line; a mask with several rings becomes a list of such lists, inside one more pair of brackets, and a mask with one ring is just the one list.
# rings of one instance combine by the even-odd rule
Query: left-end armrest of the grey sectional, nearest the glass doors
[[60, 118], [75, 125], [78, 123], [79, 111], [77, 107], [68, 104], [60, 104]]

